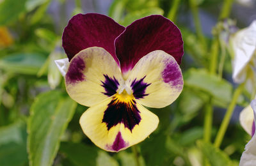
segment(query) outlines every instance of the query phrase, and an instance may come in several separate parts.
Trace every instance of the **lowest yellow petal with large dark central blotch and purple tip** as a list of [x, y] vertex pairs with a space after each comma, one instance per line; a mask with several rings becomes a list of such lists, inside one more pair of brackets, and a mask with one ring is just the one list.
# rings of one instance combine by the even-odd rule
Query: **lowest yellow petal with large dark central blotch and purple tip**
[[[159, 123], [155, 114], [136, 101], [131, 101], [134, 105], [129, 105], [129, 102], [125, 103], [124, 101], [122, 103], [120, 100], [115, 102], [115, 97], [108, 98], [102, 103], [90, 107], [80, 119], [81, 127], [87, 137], [98, 147], [113, 152], [127, 149], [127, 147], [146, 139], [150, 133], [156, 130]], [[125, 105], [136, 107], [138, 111], [125, 109]], [[118, 114], [118, 111], [122, 113]], [[133, 121], [134, 118], [139, 119], [138, 123]]]

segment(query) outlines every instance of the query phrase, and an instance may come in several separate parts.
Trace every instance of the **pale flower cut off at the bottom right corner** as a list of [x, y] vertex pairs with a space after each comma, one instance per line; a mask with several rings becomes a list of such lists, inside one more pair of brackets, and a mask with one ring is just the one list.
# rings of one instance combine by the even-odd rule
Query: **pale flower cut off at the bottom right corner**
[[[251, 107], [253, 109], [254, 121], [256, 121], [256, 99], [252, 100]], [[254, 123], [255, 126], [255, 123]], [[253, 133], [252, 139], [246, 144], [244, 152], [241, 156], [239, 166], [253, 166], [256, 163], [256, 134]]]

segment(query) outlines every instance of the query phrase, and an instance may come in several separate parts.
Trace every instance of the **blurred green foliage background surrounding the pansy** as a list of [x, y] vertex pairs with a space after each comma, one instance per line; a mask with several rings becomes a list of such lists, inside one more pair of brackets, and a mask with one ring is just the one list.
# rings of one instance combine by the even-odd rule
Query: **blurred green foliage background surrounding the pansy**
[[[65, 0], [58, 3], [67, 5]], [[81, 1], [74, 4], [72, 15], [83, 13]], [[62, 7], [56, 22], [48, 11], [51, 5], [51, 0], [0, 1], [0, 26], [8, 27], [13, 38], [12, 44], [0, 47], [0, 165], [238, 165], [250, 135], [237, 121], [228, 126], [220, 148], [214, 146], [237, 87], [230, 81], [231, 57], [223, 50], [220, 33], [202, 33], [198, 13], [214, 5], [212, 17], [228, 18], [232, 1], [113, 1], [108, 15], [124, 26], [152, 14], [175, 22], [185, 50], [182, 94], [164, 109], [150, 109], [159, 116], [157, 130], [120, 153], [102, 151], [79, 126], [86, 107], [69, 98], [53, 63], [65, 57], [61, 34], [71, 15]], [[193, 17], [195, 29], [179, 21], [181, 11]], [[241, 110], [251, 96], [244, 89], [238, 96]]]

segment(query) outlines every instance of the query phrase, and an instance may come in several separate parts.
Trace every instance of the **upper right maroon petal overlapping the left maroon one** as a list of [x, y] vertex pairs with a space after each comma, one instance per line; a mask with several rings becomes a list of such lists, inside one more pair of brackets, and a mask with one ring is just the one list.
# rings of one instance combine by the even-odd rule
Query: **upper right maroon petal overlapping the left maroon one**
[[180, 30], [161, 15], [151, 15], [132, 22], [115, 40], [116, 56], [122, 72], [131, 70], [141, 59], [154, 50], [163, 50], [178, 64], [184, 54]]

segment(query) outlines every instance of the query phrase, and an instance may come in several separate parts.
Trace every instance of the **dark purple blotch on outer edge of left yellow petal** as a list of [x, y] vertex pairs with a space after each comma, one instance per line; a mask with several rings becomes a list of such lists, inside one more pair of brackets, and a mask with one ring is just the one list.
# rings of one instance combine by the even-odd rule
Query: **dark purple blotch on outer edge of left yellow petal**
[[76, 83], [85, 79], [83, 70], [85, 68], [85, 63], [81, 57], [76, 57], [72, 60], [69, 65], [67, 74], [65, 76], [66, 82], [68, 84]]

